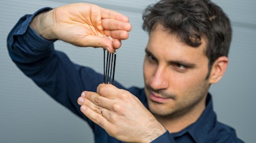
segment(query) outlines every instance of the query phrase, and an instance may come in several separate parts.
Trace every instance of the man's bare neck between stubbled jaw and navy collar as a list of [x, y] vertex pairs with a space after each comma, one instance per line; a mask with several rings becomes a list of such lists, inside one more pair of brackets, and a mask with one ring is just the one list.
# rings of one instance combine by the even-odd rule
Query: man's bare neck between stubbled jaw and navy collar
[[198, 105], [190, 109], [185, 114], [170, 116], [155, 115], [155, 117], [170, 133], [180, 132], [190, 124], [195, 123], [201, 116], [205, 109], [205, 100], [206, 97], [201, 103], [198, 103]]

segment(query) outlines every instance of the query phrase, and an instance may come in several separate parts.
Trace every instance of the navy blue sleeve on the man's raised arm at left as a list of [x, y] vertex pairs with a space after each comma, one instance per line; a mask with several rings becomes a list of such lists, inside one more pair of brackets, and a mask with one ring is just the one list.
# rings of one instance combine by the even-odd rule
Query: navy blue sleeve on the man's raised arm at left
[[103, 77], [91, 68], [70, 61], [63, 52], [54, 50], [54, 40], [40, 37], [29, 23], [38, 13], [52, 8], [42, 8], [33, 15], [24, 15], [10, 31], [8, 51], [18, 68], [41, 87], [54, 100], [93, 125], [80, 111], [77, 98], [84, 90], [96, 91]]

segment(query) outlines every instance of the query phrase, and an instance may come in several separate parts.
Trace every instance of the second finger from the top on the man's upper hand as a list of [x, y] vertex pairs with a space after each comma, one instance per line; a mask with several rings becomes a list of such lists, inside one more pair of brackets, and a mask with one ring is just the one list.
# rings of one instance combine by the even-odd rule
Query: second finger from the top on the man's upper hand
[[132, 29], [129, 22], [122, 22], [115, 19], [102, 19], [102, 27], [108, 30], [131, 31]]

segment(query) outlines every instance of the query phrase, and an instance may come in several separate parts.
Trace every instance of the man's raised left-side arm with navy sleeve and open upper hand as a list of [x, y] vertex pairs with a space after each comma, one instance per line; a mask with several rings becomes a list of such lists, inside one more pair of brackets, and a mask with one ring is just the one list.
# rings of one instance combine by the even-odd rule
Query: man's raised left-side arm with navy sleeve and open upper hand
[[[129, 30], [131, 24], [127, 17], [93, 4], [42, 8], [33, 15], [24, 15], [13, 27], [8, 35], [8, 51], [19, 69], [47, 94], [84, 117], [76, 100], [84, 89], [95, 91], [103, 77], [54, 50], [54, 41], [109, 47], [113, 51], [113, 47], [120, 47], [120, 40], [128, 38]], [[114, 41], [103, 38], [104, 34]]]

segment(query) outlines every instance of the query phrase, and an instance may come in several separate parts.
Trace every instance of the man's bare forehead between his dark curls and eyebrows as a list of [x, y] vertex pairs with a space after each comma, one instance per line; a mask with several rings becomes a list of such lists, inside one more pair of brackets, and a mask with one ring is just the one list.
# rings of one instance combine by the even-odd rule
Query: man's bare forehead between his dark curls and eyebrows
[[164, 59], [184, 59], [202, 60], [206, 58], [205, 54], [206, 42], [202, 39], [199, 47], [191, 47], [182, 42], [175, 34], [166, 31], [160, 24], [151, 32], [148, 40], [147, 50], [149, 50], [157, 58]]

